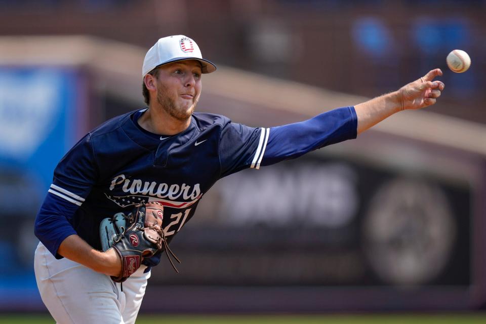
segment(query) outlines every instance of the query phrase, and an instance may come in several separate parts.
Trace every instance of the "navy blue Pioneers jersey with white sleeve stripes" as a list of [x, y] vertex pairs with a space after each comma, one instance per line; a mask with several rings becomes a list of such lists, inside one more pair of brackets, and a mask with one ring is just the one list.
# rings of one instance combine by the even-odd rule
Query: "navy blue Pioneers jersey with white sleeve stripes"
[[[145, 109], [115, 117], [88, 133], [56, 167], [35, 220], [35, 235], [56, 258], [62, 258], [57, 250], [71, 234], [101, 250], [101, 220], [147, 201], [164, 205], [163, 227], [170, 242], [218, 179], [357, 135], [354, 107], [273, 128], [194, 113], [190, 126], [170, 137], [141, 129], [137, 119]], [[154, 266], [159, 258], [160, 253], [144, 264]]]

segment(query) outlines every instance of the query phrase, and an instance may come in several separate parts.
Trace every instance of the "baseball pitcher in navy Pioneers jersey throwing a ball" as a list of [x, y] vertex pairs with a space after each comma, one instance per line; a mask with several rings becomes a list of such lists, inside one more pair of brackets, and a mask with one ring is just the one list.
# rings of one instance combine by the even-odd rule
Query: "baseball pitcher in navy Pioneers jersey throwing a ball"
[[[434, 104], [444, 88], [433, 80], [442, 75], [434, 69], [355, 106], [296, 124], [253, 128], [222, 115], [194, 112], [201, 75], [215, 70], [192, 39], [160, 38], [142, 67], [148, 107], [106, 121], [59, 162], [35, 220], [40, 242], [34, 261], [42, 300], [57, 322], [135, 322], [151, 268], [164, 254], [171, 260], [167, 244], [218, 179], [354, 139], [395, 112]], [[154, 234], [135, 237], [144, 215], [157, 219], [155, 213], [160, 227], [145, 220], [145, 230]], [[106, 247], [100, 224], [107, 220], [136, 225], [129, 238], [128, 225], [113, 225], [114, 239], [108, 238]], [[158, 249], [146, 254], [127, 248], [147, 237]], [[117, 240], [129, 244], [121, 246]]]

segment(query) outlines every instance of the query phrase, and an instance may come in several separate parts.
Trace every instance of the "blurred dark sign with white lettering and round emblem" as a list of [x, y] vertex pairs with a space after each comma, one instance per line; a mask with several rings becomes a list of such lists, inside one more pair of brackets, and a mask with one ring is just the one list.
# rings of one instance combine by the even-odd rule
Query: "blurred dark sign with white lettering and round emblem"
[[260, 309], [248, 294], [275, 311], [470, 308], [482, 289], [471, 239], [481, 193], [466, 174], [319, 152], [239, 172], [174, 239], [180, 273], [163, 258], [151, 285], [180, 295], [167, 310], [205, 295], [221, 299], [215, 311]]

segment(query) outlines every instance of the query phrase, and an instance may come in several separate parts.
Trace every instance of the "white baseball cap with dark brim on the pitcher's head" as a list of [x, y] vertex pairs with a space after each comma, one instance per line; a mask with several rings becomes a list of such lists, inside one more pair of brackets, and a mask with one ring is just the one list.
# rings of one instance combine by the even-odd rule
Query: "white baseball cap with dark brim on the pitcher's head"
[[143, 60], [142, 77], [160, 65], [184, 60], [199, 61], [203, 73], [216, 71], [216, 65], [203, 59], [196, 42], [184, 35], [174, 35], [160, 38], [148, 50]]

